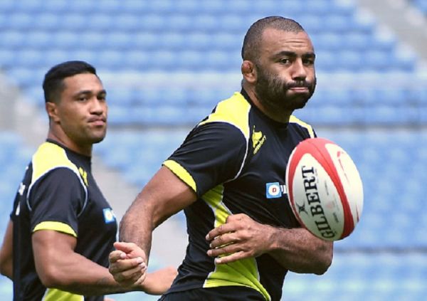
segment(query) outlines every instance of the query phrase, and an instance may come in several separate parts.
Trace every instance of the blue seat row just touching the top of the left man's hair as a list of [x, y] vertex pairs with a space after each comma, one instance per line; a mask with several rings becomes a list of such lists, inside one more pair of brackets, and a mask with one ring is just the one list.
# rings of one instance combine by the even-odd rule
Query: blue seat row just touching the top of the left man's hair
[[[186, 43], [186, 42], [182, 42]], [[188, 46], [188, 45], [187, 45]], [[100, 46], [102, 47], [102, 46]], [[173, 46], [171, 47], [173, 48]], [[166, 50], [167, 49], [167, 50]], [[241, 46], [211, 50], [195, 50], [181, 48], [179, 51], [169, 47], [158, 47], [152, 51], [144, 51], [137, 48], [122, 50], [84, 50], [70, 48], [68, 50], [36, 50], [21, 48], [21, 50], [9, 49], [0, 52], [0, 65], [3, 68], [14, 70], [20, 68], [43, 69], [56, 65], [64, 60], [88, 60], [95, 66], [107, 70], [140, 70], [150, 72], [153, 70], [174, 70], [174, 72], [238, 72], [241, 66]], [[402, 56], [401, 53], [390, 51], [371, 50], [364, 51], [360, 56], [357, 50], [344, 50], [338, 53], [319, 51], [317, 53], [316, 66], [319, 71], [333, 73], [352, 70], [354, 73], [366, 72], [412, 72], [415, 70], [416, 58]]]

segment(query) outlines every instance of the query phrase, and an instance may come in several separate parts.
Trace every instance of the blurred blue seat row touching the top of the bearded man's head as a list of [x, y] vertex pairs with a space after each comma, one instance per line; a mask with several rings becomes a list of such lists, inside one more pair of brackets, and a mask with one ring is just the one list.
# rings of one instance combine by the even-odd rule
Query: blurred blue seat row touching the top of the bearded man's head
[[[337, 33], [369, 33], [371, 23], [361, 23], [352, 16], [341, 14], [310, 14], [309, 12], [296, 13], [286, 9], [266, 9], [265, 12], [253, 11], [245, 15], [239, 14], [212, 14], [210, 12], [200, 12], [194, 15], [192, 11], [174, 11], [172, 14], [161, 15], [152, 12], [134, 12], [126, 14], [116, 11], [115, 15], [93, 12], [90, 16], [90, 26], [93, 31], [102, 33], [110, 29], [124, 31], [197, 31], [216, 32], [218, 30], [242, 33], [247, 30], [252, 21], [263, 16], [284, 15], [294, 19], [299, 19], [309, 32], [331, 31]], [[327, 14], [326, 19], [322, 16]], [[87, 28], [86, 17], [82, 13], [66, 11], [65, 13], [41, 13], [31, 14], [25, 11], [12, 13], [0, 13], [1, 25], [6, 29], [25, 30], [51, 30], [56, 31], [58, 26], [69, 31], [78, 31]], [[38, 20], [37, 23], [34, 21]], [[305, 21], [305, 23], [304, 23]]]

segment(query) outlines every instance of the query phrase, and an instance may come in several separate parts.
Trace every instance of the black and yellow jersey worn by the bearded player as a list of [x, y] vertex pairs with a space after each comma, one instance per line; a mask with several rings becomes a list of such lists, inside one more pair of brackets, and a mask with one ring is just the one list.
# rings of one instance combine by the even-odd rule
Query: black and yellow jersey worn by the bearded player
[[198, 197], [184, 209], [189, 245], [169, 292], [243, 285], [265, 300], [280, 300], [288, 270], [268, 254], [216, 265], [206, 255], [205, 236], [236, 213], [272, 226], [300, 227], [288, 204], [285, 170], [292, 149], [309, 137], [315, 137], [310, 125], [294, 116], [286, 124], [271, 120], [244, 90], [219, 102], [191, 130], [163, 163]]

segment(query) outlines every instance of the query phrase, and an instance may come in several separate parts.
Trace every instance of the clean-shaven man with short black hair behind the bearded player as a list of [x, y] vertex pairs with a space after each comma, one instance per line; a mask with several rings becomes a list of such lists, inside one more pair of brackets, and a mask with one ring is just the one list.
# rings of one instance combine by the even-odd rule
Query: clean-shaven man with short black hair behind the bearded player
[[[93, 144], [107, 131], [106, 91], [92, 65], [68, 61], [43, 81], [49, 130], [26, 169], [0, 253], [14, 300], [103, 301], [107, 294], [162, 294], [173, 268], [122, 287], [108, 273], [117, 222], [91, 173]], [[144, 262], [138, 269], [146, 270]], [[130, 271], [132, 274], [132, 270]]]

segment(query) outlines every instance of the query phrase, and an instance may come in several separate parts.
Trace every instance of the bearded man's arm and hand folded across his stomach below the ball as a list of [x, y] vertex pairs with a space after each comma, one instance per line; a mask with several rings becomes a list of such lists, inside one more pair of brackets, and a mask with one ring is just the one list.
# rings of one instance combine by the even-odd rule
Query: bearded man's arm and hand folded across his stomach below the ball
[[228, 216], [226, 223], [206, 236], [208, 255], [218, 264], [268, 253], [295, 273], [322, 275], [332, 263], [333, 243], [305, 228], [278, 228], [253, 221], [246, 214]]

